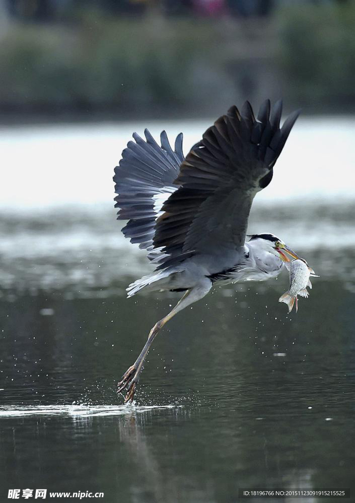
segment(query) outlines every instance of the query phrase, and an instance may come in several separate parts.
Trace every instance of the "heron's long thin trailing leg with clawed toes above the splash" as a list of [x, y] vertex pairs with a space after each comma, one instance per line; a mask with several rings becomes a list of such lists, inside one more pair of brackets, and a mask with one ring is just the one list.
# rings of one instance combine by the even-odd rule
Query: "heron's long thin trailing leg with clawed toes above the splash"
[[148, 355], [151, 344], [157, 337], [159, 330], [161, 330], [165, 325], [165, 323], [169, 321], [173, 316], [175, 316], [175, 314], [177, 314], [179, 311], [181, 311], [188, 305], [192, 304], [193, 302], [196, 302], [197, 300], [204, 297], [211, 289], [211, 286], [212, 283], [208, 278], [206, 278], [206, 282], [203, 282], [201, 286], [187, 290], [187, 292], [181, 297], [179, 302], [176, 304], [174, 309], [172, 309], [169, 314], [167, 314], [161, 320], [157, 321], [157, 323], [154, 325], [152, 330], [149, 332], [148, 340], [144, 345], [143, 350], [141, 350], [134, 364], [131, 365], [123, 374], [121, 381], [117, 385], [117, 393], [120, 393], [124, 389], [126, 390], [124, 403], [133, 400], [136, 384], [139, 381], [140, 373], [143, 370], [145, 359]]

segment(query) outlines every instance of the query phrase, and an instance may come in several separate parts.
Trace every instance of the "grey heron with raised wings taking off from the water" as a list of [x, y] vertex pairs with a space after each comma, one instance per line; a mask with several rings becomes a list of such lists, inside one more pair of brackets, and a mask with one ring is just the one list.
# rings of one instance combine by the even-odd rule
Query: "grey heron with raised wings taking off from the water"
[[281, 100], [270, 111], [265, 100], [257, 117], [246, 101], [231, 107], [184, 157], [182, 134], [172, 149], [165, 131], [161, 146], [146, 129], [136, 133], [115, 168], [115, 207], [132, 243], [147, 250], [152, 274], [127, 288], [184, 292], [177, 305], [149, 333], [138, 358], [123, 374], [118, 392], [133, 399], [148, 351], [165, 323], [204, 297], [213, 286], [276, 277], [289, 256], [298, 255], [271, 234], [247, 238], [254, 196], [272, 179], [273, 166], [299, 115], [280, 127]]

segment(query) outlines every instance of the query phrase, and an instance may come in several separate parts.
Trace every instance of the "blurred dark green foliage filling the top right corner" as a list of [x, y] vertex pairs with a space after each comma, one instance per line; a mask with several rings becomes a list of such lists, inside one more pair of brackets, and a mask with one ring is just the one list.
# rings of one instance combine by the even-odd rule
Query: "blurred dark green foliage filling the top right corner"
[[279, 67], [294, 102], [354, 110], [355, 3], [283, 11]]

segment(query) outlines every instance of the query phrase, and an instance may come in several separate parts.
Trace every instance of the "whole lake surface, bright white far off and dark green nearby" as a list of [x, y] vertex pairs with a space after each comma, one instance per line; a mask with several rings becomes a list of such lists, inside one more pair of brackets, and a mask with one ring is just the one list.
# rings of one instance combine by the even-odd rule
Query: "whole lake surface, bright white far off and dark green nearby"
[[[206, 125], [166, 128], [186, 151]], [[248, 487], [355, 501], [355, 119], [300, 120], [253, 207], [250, 232], [320, 275], [298, 313], [277, 302], [285, 275], [216, 289], [159, 334], [125, 406], [116, 383], [179, 298], [125, 298], [150, 266], [119, 232], [112, 170], [144, 126], [2, 127], [0, 501], [225, 503]]]

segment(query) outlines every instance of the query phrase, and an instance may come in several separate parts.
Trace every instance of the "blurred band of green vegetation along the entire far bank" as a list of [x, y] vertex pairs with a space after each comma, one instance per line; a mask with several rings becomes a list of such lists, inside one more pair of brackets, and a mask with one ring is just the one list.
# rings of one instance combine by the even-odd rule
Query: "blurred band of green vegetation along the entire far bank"
[[355, 110], [355, 7], [302, 5], [262, 20], [107, 18], [11, 24], [0, 111], [210, 115], [245, 98]]

